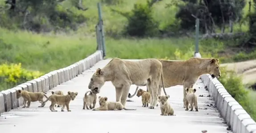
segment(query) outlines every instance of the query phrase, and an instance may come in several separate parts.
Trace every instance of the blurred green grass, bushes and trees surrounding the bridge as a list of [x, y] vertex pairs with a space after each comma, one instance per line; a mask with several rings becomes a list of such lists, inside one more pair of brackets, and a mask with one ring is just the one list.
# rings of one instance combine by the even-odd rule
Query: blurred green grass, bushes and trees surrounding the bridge
[[[256, 57], [255, 0], [0, 0], [0, 90], [95, 52], [98, 2], [107, 57], [186, 60], [195, 51], [192, 15], [200, 19], [202, 57]], [[222, 73], [221, 83], [256, 119], [256, 93], [236, 73]]]

